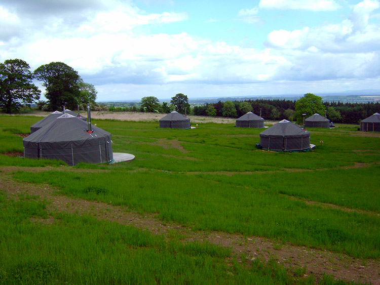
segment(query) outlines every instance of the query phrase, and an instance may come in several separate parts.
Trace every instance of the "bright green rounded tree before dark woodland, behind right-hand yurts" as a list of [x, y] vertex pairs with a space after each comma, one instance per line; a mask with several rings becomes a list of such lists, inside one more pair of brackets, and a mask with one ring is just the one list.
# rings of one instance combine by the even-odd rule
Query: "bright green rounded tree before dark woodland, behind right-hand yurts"
[[321, 97], [313, 93], [307, 93], [295, 102], [294, 119], [297, 120], [297, 124], [303, 123], [302, 114], [306, 114], [306, 117], [310, 117], [315, 113], [320, 115], [324, 115], [325, 113], [325, 106], [322, 103]]

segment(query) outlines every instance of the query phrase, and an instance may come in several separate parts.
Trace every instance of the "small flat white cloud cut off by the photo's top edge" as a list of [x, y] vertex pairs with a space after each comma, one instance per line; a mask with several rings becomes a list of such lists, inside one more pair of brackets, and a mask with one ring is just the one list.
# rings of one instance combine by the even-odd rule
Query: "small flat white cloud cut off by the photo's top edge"
[[260, 9], [334, 11], [340, 8], [334, 0], [260, 0]]

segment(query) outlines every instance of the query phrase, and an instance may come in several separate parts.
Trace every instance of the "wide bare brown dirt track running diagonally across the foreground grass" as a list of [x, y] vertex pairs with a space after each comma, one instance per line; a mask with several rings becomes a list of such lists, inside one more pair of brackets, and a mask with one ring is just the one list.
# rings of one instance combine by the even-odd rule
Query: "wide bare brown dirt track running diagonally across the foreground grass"
[[[49, 202], [47, 210], [50, 213], [66, 212], [75, 215], [90, 215], [99, 220], [131, 225], [149, 230], [154, 234], [163, 234], [167, 238], [170, 238], [174, 233], [175, 236], [181, 235], [183, 242], [207, 241], [230, 248], [233, 256], [238, 257], [241, 261], [276, 259], [278, 263], [289, 268], [305, 267], [306, 275], [315, 274], [317, 278], [320, 278], [323, 274], [330, 274], [335, 278], [346, 281], [380, 284], [380, 262], [377, 260], [355, 259], [344, 254], [294, 246], [290, 243], [281, 243], [280, 241], [258, 236], [243, 236], [241, 234], [216, 231], [193, 231], [191, 228], [185, 228], [181, 225], [164, 223], [155, 214], [141, 216], [126, 207], [56, 195], [58, 190], [48, 185], [19, 183], [12, 180], [11, 177], [16, 169], [15, 167], [0, 168], [2, 172], [0, 191], [7, 193], [9, 197], [17, 197], [24, 193], [38, 195], [40, 199], [45, 199]], [[24, 168], [18, 169], [26, 170]], [[34, 171], [46, 171], [46, 168], [34, 169]], [[35, 223], [47, 225], [54, 223], [52, 216], [49, 216], [48, 219], [33, 218], [31, 220]]]

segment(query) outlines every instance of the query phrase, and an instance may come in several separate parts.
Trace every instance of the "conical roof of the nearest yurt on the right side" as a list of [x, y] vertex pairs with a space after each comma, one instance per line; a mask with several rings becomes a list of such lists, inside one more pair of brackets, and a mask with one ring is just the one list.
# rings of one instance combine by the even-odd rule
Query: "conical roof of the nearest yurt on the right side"
[[282, 120], [273, 125], [271, 128], [260, 133], [260, 136], [273, 136], [273, 137], [306, 137], [310, 136], [310, 132], [303, 130], [301, 127], [291, 123], [288, 120]]

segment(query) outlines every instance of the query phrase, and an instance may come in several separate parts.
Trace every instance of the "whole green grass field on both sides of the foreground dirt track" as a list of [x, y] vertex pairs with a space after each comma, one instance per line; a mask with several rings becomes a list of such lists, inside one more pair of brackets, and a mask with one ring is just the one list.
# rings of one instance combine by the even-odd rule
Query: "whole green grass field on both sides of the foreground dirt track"
[[[29, 133], [39, 119], [0, 115], [0, 153], [22, 152], [22, 138], [16, 134]], [[255, 148], [262, 129], [93, 123], [112, 134], [114, 152], [131, 153], [135, 159], [70, 168], [54, 160], [0, 155], [0, 167], [17, 167], [12, 175], [16, 181], [49, 184], [61, 194], [142, 215], [154, 213], [163, 223], [380, 260], [378, 133], [358, 132], [350, 125], [309, 129], [314, 150], [282, 153]], [[37, 167], [42, 169], [30, 171]], [[89, 216], [50, 213], [36, 197], [9, 199], [0, 193], [0, 283], [315, 281], [312, 276], [298, 278], [276, 262], [246, 266], [227, 249], [209, 243], [168, 241]], [[30, 221], [48, 216], [54, 217], [52, 225]], [[325, 277], [321, 282], [335, 281]]]

